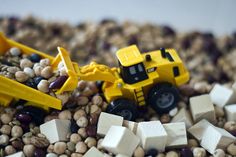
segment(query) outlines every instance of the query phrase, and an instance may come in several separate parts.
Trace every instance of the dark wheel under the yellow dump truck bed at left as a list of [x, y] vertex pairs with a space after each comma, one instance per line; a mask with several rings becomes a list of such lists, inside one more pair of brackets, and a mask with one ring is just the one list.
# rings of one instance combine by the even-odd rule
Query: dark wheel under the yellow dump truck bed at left
[[27, 114], [31, 116], [32, 121], [37, 125], [40, 125], [44, 122], [44, 117], [46, 112], [43, 109], [34, 107], [34, 106], [25, 106], [19, 113]]

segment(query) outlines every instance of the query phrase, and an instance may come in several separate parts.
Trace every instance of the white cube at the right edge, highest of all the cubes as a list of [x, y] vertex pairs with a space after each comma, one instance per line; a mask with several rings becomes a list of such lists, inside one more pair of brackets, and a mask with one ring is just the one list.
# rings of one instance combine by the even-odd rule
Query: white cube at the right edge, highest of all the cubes
[[233, 89], [226, 88], [216, 84], [210, 92], [213, 104], [223, 108], [225, 105], [236, 103], [236, 92]]

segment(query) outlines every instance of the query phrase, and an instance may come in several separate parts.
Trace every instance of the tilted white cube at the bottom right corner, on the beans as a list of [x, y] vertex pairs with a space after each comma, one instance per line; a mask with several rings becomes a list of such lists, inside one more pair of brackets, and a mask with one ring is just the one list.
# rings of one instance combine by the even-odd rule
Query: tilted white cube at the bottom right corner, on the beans
[[216, 149], [226, 149], [226, 147], [235, 141], [235, 137], [222, 128], [208, 126], [202, 136], [200, 145], [209, 153], [213, 154]]

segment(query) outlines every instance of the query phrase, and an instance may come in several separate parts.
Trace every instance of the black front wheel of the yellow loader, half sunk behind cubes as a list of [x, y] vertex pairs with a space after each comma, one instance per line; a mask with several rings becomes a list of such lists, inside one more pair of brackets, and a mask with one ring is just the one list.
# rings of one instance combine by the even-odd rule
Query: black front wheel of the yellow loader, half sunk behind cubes
[[125, 120], [135, 120], [138, 116], [136, 104], [128, 99], [116, 99], [112, 101], [106, 111], [122, 116]]

